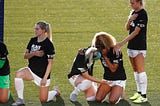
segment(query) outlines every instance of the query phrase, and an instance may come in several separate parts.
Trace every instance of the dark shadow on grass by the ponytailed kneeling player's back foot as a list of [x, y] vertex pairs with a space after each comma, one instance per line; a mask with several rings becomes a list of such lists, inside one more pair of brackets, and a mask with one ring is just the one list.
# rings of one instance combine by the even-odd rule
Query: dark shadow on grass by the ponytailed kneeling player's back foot
[[56, 96], [56, 101], [50, 101], [47, 103], [41, 103], [42, 106], [65, 106], [64, 100], [61, 96]]

